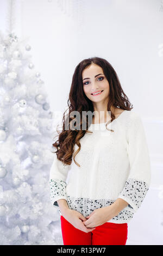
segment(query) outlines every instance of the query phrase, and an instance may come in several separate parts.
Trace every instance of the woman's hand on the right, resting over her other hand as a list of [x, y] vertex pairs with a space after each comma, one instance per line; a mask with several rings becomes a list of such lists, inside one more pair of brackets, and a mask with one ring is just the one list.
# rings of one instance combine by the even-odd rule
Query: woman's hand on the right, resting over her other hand
[[105, 222], [111, 220], [115, 216], [112, 207], [106, 206], [104, 208], [98, 208], [92, 211], [89, 216], [86, 216], [87, 220], [83, 221], [86, 228], [95, 228]]

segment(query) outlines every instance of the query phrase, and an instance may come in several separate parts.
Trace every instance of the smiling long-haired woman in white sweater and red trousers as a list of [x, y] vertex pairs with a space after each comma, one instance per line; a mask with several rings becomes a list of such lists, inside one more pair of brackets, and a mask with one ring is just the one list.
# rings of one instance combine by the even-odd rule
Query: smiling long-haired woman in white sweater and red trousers
[[98, 57], [77, 65], [69, 101], [49, 175], [64, 245], [126, 245], [128, 222], [151, 183], [140, 115]]

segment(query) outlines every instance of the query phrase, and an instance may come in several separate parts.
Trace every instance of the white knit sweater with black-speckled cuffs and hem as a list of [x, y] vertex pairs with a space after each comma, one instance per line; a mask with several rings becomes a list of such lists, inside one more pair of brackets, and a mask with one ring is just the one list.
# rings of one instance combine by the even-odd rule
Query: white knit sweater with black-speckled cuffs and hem
[[[107, 127], [91, 124], [92, 134], [80, 139], [81, 149], [71, 166], [63, 164], [54, 154], [49, 174], [52, 205], [66, 199], [68, 208], [88, 216], [97, 208], [111, 205], [117, 198], [128, 202], [108, 222], [128, 223], [140, 208], [151, 184], [151, 163], [145, 130], [139, 114], [123, 111]], [[78, 149], [74, 145], [74, 152]], [[74, 153], [73, 153], [74, 154]]]

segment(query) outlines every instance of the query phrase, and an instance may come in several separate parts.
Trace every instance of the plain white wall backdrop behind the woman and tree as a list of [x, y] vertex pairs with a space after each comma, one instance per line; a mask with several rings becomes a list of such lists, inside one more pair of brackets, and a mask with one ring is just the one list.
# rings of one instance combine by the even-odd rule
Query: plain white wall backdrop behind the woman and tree
[[[0, 29], [8, 27], [8, 1], [0, 1]], [[163, 1], [17, 0], [13, 26], [29, 38], [51, 110], [67, 105], [76, 65], [107, 59], [142, 116], [152, 164], [152, 185], [128, 225], [127, 245], [163, 245]], [[133, 111], [134, 111], [133, 109]]]

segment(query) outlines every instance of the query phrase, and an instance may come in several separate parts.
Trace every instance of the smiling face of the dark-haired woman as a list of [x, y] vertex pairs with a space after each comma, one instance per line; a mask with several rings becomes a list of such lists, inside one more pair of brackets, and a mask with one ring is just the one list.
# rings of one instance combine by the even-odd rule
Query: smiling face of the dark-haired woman
[[[108, 99], [109, 82], [106, 79], [101, 66], [91, 64], [84, 69], [82, 72], [82, 80], [84, 93], [92, 102], [100, 102]], [[92, 95], [96, 92], [101, 93]]]

